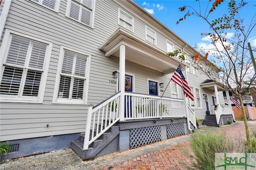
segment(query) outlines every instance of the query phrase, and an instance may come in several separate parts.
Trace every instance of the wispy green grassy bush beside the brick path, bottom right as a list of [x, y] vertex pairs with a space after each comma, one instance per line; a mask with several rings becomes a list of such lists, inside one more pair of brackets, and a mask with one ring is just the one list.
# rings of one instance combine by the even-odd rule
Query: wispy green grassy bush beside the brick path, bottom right
[[232, 138], [226, 137], [223, 131], [216, 133], [206, 131], [206, 134], [203, 134], [196, 130], [191, 136], [190, 148], [193, 154], [185, 152], [187, 156], [192, 158], [191, 165], [186, 166], [188, 169], [213, 170], [215, 168], [215, 153], [234, 150]]

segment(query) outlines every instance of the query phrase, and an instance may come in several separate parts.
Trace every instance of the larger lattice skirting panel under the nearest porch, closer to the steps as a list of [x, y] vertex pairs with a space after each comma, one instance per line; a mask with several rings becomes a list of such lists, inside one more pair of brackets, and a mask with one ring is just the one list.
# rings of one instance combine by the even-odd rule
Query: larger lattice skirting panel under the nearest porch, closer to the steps
[[130, 130], [130, 149], [160, 141], [161, 127], [134, 128]]

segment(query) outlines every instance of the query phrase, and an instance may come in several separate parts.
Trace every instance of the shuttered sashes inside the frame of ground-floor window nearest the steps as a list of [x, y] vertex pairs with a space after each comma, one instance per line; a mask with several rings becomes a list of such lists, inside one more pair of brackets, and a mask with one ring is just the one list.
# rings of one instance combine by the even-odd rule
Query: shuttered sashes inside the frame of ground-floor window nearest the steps
[[87, 56], [64, 50], [57, 100], [84, 100]]

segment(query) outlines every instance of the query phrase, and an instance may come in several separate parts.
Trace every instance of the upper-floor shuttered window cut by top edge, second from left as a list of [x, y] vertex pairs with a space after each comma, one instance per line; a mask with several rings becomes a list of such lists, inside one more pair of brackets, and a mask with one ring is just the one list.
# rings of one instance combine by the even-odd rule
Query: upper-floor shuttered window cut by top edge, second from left
[[93, 0], [68, 0], [66, 16], [92, 27]]

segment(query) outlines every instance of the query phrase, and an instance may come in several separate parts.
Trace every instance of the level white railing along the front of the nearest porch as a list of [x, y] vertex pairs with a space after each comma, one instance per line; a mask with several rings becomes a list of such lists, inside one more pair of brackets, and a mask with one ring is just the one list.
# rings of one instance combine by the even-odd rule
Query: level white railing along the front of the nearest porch
[[125, 93], [124, 119], [186, 117], [183, 99]]

